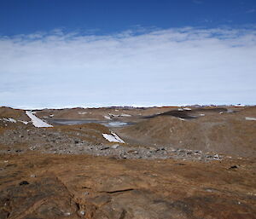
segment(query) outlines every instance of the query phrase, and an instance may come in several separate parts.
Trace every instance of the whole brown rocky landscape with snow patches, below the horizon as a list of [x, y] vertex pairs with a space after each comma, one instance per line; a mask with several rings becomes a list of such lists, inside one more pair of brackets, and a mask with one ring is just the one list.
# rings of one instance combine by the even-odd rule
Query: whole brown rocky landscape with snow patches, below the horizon
[[256, 107], [32, 113], [0, 107], [0, 218], [256, 218]]

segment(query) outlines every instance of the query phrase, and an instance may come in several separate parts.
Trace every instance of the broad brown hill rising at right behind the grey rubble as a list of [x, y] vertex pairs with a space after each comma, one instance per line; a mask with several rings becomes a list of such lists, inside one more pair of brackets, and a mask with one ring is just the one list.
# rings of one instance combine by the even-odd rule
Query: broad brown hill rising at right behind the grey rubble
[[[247, 120], [255, 107], [230, 113], [220, 109], [178, 112], [151, 116], [125, 127], [119, 135], [132, 143], [256, 157], [256, 122]], [[195, 112], [203, 116], [192, 118]]]

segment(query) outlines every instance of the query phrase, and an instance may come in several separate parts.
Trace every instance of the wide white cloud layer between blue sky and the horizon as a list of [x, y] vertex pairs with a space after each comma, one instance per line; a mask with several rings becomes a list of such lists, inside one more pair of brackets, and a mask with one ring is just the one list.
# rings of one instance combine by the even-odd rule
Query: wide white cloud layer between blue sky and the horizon
[[0, 105], [256, 104], [256, 29], [0, 37]]

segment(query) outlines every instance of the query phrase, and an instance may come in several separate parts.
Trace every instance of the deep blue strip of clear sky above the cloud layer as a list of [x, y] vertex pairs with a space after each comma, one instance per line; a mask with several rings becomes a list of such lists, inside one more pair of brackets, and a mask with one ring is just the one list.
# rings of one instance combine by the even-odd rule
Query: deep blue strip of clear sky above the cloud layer
[[1, 0], [1, 35], [254, 25], [255, 0]]

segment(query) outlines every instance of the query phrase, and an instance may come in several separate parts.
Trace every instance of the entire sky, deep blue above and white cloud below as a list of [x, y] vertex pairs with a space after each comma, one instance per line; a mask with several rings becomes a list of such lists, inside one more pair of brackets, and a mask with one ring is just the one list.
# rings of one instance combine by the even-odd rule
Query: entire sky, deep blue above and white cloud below
[[256, 104], [254, 0], [0, 0], [0, 106]]

